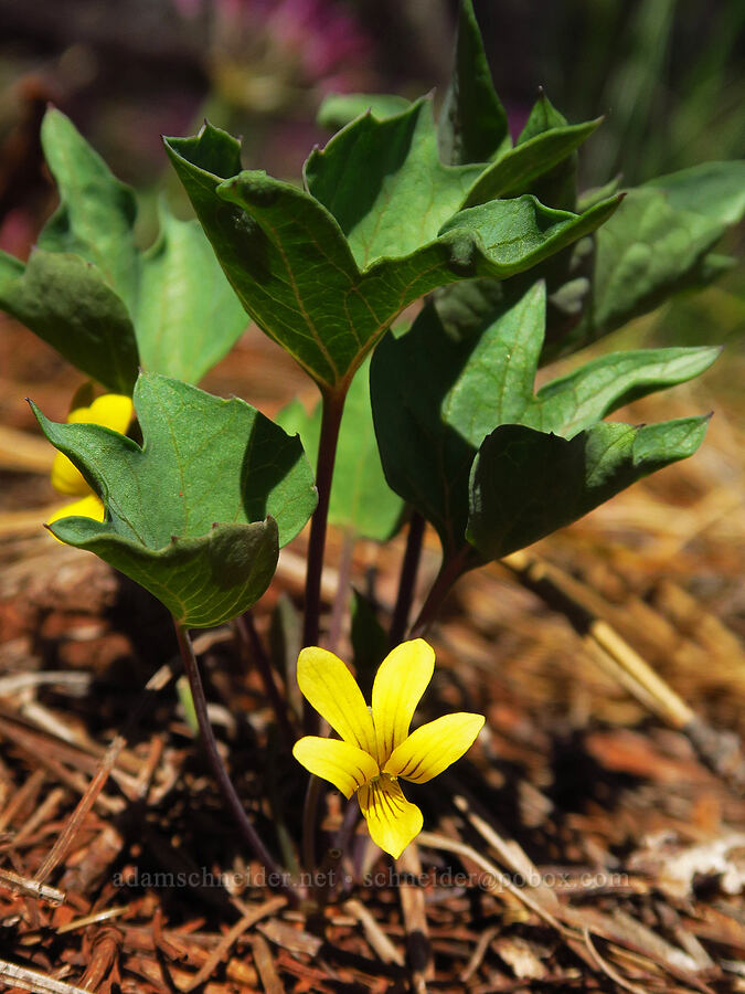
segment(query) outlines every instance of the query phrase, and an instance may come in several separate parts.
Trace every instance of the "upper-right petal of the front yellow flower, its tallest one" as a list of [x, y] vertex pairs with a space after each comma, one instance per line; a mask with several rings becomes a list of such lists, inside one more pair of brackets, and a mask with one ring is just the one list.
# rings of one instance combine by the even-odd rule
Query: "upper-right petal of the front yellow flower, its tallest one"
[[435, 652], [424, 638], [403, 642], [387, 654], [373, 684], [373, 722], [381, 766], [408, 734], [414, 711], [435, 670]]

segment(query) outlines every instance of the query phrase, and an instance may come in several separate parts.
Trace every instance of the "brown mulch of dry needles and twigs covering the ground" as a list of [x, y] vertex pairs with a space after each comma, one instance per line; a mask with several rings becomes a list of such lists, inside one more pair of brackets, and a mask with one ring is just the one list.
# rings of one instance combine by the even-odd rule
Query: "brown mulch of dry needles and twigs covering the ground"
[[[394, 866], [358, 826], [308, 917], [223, 812], [163, 611], [38, 527], [55, 498], [21, 399], [62, 419], [76, 376], [10, 322], [0, 351], [2, 424], [24, 433], [0, 436], [0, 987], [745, 991], [743, 427], [705, 382], [622, 412], [716, 408], [693, 459], [458, 584], [423, 717], [482, 710], [487, 731], [408, 789], [418, 845]], [[269, 414], [311, 399], [277, 357], [248, 334], [205, 385]], [[265, 635], [280, 594], [300, 601], [302, 547], [258, 605]], [[329, 596], [340, 547], [332, 535]], [[354, 550], [384, 609], [401, 550]], [[428, 537], [419, 593], [436, 568]], [[305, 773], [233, 630], [196, 647], [246, 810], [288, 865]], [[330, 792], [327, 847], [342, 817]]]

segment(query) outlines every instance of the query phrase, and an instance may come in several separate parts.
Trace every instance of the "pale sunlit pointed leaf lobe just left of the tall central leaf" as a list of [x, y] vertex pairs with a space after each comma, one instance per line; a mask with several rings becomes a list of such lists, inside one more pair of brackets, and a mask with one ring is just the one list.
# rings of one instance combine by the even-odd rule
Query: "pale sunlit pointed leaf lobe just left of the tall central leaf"
[[160, 235], [142, 256], [137, 315], [142, 367], [196, 383], [246, 324], [199, 222], [179, 221], [161, 205]]

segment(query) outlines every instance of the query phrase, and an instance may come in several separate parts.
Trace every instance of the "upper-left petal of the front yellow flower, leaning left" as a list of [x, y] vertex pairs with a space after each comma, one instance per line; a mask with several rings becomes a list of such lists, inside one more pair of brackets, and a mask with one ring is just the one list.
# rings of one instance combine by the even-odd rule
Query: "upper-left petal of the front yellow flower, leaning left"
[[345, 742], [375, 757], [375, 730], [356, 680], [339, 656], [310, 646], [298, 656], [301, 692]]

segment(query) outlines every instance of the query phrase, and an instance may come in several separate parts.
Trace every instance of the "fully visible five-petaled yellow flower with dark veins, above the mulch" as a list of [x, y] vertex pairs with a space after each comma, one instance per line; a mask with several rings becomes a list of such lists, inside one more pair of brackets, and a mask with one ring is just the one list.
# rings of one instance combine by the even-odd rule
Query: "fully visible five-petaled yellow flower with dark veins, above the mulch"
[[395, 858], [423, 825], [398, 778], [426, 783], [459, 760], [483, 727], [482, 715], [459, 712], [409, 734], [434, 669], [435, 653], [423, 638], [402, 643], [381, 663], [368, 708], [356, 680], [333, 653], [312, 646], [298, 657], [300, 690], [341, 739], [306, 736], [292, 754], [348, 800], [356, 793], [373, 842]]

